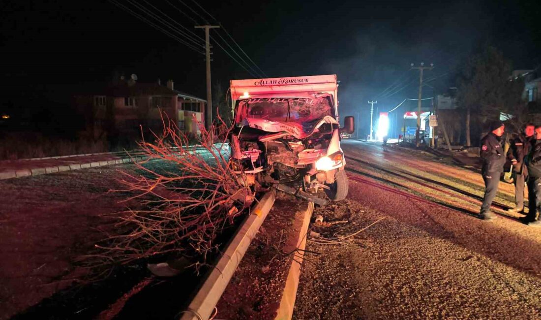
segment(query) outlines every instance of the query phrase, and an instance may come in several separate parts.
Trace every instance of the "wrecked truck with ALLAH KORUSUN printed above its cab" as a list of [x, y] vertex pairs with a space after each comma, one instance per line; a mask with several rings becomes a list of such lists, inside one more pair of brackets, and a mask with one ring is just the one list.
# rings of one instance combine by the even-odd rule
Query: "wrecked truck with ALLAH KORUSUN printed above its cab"
[[[232, 80], [233, 171], [254, 191], [272, 186], [324, 204], [347, 196], [340, 134], [352, 134], [353, 117], [340, 128], [336, 75]], [[325, 197], [325, 196], [323, 196]]]

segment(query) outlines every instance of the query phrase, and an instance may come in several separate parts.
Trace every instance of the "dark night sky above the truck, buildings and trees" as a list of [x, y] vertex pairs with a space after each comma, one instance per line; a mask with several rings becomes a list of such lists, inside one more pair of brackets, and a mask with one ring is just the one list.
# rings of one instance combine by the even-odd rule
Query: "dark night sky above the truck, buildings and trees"
[[[168, 1], [201, 24], [216, 23], [193, 0], [137, 3], [149, 9], [151, 3], [192, 30], [194, 22]], [[410, 63], [435, 64], [426, 72], [425, 79], [436, 79], [427, 83], [433, 88], [425, 87], [424, 97], [444, 92], [453, 71], [482, 43], [502, 49], [516, 69], [541, 62], [539, 1], [197, 3], [268, 76], [337, 74], [342, 115], [365, 117], [368, 99], [386, 111], [417, 97], [418, 73]], [[205, 96], [204, 56], [109, 1], [4, 1], [0, 10], [3, 105], [26, 108], [30, 98], [42, 97], [63, 101], [71, 95], [64, 85], [109, 81], [115, 70], [135, 73], [143, 82], [173, 79], [177, 89]], [[213, 52], [213, 82], [227, 86], [229, 79], [253, 77], [217, 45]], [[392, 84], [395, 90], [381, 94]]]

